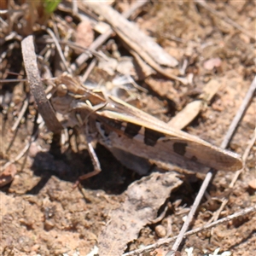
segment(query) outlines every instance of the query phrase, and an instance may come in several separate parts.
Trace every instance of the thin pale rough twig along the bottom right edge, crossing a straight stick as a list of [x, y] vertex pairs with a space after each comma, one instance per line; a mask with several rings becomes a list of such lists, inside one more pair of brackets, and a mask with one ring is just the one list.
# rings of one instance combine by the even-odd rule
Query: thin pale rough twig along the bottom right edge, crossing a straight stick
[[[250, 212], [256, 212], [256, 206], [253, 207], [248, 207], [244, 210], [242, 210], [241, 212], [236, 212], [234, 214], [231, 214], [225, 218], [221, 218], [218, 219], [215, 222], [212, 222], [211, 224], [207, 224], [201, 228], [197, 228], [195, 230], [190, 230], [189, 232], [186, 232], [184, 234], [185, 237], [191, 236], [191, 235], [195, 235], [196, 233], [201, 232], [202, 230], [209, 230], [212, 229], [213, 227], [217, 226], [218, 224], [224, 224], [225, 222], [229, 222], [230, 220], [234, 219], [234, 218], [238, 218], [241, 216], [245, 216]], [[168, 245], [170, 244], [170, 242], [174, 241], [175, 239], [177, 239], [177, 236], [173, 236], [171, 238], [165, 238], [165, 239], [160, 239], [159, 241], [157, 241], [156, 243], [149, 245], [147, 247], [143, 247], [141, 249], [137, 249], [135, 251], [131, 251], [129, 253], [124, 253], [122, 256], [134, 256], [134, 255], [138, 255], [139, 253], [146, 253], [149, 251], [153, 251], [154, 249], [163, 246], [163, 245]]]

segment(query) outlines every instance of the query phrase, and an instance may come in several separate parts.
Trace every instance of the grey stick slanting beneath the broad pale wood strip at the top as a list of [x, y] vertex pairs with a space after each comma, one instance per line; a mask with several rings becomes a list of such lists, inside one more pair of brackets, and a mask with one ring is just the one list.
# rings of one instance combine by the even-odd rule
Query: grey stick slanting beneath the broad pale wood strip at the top
[[[146, 3], [148, 3], [148, 0], [141, 0], [141, 1], [137, 1], [137, 3], [133, 3], [131, 6], [131, 9], [128, 9], [123, 14], [124, 17], [128, 19], [137, 9], [143, 7], [143, 5], [145, 5]], [[105, 32], [104, 34], [96, 38], [96, 40], [92, 44], [90, 44], [89, 49], [95, 50], [99, 48], [108, 38], [110, 38], [112, 33], [113, 33], [113, 30], [109, 29], [107, 32]], [[79, 57], [71, 65], [72, 71], [75, 71], [78, 67], [84, 64], [84, 62], [87, 61], [89, 57], [90, 55], [88, 55], [87, 53], [79, 55]]]

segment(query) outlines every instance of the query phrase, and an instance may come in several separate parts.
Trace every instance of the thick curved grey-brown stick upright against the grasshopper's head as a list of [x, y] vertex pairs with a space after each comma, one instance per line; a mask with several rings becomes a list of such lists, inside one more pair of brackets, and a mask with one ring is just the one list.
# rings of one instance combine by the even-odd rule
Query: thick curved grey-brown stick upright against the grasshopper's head
[[50, 131], [60, 133], [63, 128], [59, 120], [56, 118], [55, 111], [51, 107], [45, 95], [43, 84], [38, 72], [37, 56], [35, 54], [32, 36], [28, 36], [22, 40], [21, 50], [30, 89], [38, 104], [38, 112], [42, 115], [44, 122]]

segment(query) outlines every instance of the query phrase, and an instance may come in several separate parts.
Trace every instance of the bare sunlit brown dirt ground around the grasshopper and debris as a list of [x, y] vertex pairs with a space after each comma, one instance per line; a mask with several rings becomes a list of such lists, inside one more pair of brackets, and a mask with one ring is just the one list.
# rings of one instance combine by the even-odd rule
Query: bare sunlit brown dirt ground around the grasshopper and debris
[[[236, 21], [248, 33], [255, 35], [256, 9], [253, 1], [207, 3], [223, 17]], [[119, 3], [117, 9], [123, 11], [129, 6], [130, 3]], [[70, 15], [61, 11], [58, 15], [64, 20], [70, 18]], [[193, 83], [187, 85], [166, 79], [160, 74], [137, 82], [148, 90], [147, 93], [138, 92], [140, 108], [168, 121], [189, 102], [200, 99], [205, 85], [216, 80], [219, 88], [215, 96], [185, 131], [220, 145], [256, 73], [253, 38], [193, 1], [148, 3], [135, 21], [143, 32], [154, 37], [166, 52], [177, 59], [180, 68], [184, 61], [188, 61], [185, 75], [193, 74]], [[120, 53], [129, 55], [122, 48], [119, 38], [113, 39]], [[11, 55], [3, 57], [9, 44], [14, 44], [14, 49]], [[1, 74], [4, 73], [3, 69], [20, 73], [23, 70], [20, 41], [13, 39], [1, 45]], [[38, 45], [38, 52], [39, 49]], [[49, 63], [49, 68], [53, 66], [53, 63]], [[15, 75], [10, 73], [4, 77], [11, 78], [15, 78]], [[83, 143], [79, 144], [77, 152], [72, 147], [63, 150], [59, 146], [59, 138], [53, 136], [45, 126], [38, 128], [38, 125], [34, 125], [37, 119], [35, 103], [24, 83], [0, 84], [0, 89], [1, 165], [14, 160], [29, 143], [32, 134], [39, 131], [28, 151], [15, 162], [17, 172], [14, 180], [0, 191], [0, 254], [87, 255], [102, 239], [99, 237], [102, 232], [106, 232], [106, 226], [114, 221], [112, 212], [122, 209], [129, 186], [142, 177], [135, 170], [123, 166], [108, 148], [97, 145], [96, 154], [102, 172], [83, 181], [80, 188], [73, 189], [78, 177], [92, 170], [90, 155]], [[18, 128], [12, 131], [26, 99], [26, 113]], [[255, 113], [254, 96], [230, 142], [230, 150], [244, 154], [247, 143], [253, 137]], [[75, 136], [75, 132], [70, 131], [70, 135]], [[224, 199], [228, 201], [219, 218], [255, 205], [255, 157], [254, 143], [246, 167], [232, 189], [229, 185], [234, 172], [218, 172], [215, 175], [190, 229], [207, 224]], [[155, 209], [159, 216], [167, 207], [164, 216], [153, 224], [145, 222], [134, 241], [127, 238], [125, 252], [152, 244], [166, 234], [177, 236], [204, 177], [195, 173], [177, 176], [179, 182], [172, 194], [166, 196], [163, 205]], [[136, 222], [137, 212], [132, 214]], [[119, 236], [125, 239], [130, 223], [125, 224], [128, 230], [117, 233], [116, 237], [113, 234], [107, 236], [115, 237], [113, 239], [116, 241], [119, 241]], [[116, 241], [113, 241], [113, 246]], [[189, 236], [180, 248], [182, 255], [189, 255], [186, 253], [189, 247], [194, 248], [193, 255], [209, 255], [219, 247], [220, 253], [230, 251], [229, 255], [253, 256], [256, 254], [256, 215], [236, 218], [212, 230]], [[160, 247], [155, 254], [145, 255], [166, 255], [171, 248], [172, 244]], [[101, 252], [100, 256], [111, 255]]]

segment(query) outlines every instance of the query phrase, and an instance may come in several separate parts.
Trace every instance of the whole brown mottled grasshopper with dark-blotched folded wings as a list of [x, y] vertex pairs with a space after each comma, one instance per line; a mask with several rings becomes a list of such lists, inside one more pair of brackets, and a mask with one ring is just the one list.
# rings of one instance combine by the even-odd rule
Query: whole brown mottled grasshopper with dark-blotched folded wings
[[[94, 171], [82, 179], [101, 172], [93, 142], [118, 149], [151, 163], [163, 163], [201, 172], [206, 167], [223, 171], [242, 168], [238, 154], [213, 146], [184, 131], [172, 129], [160, 119], [123, 102], [115, 96], [104, 96], [67, 74], [55, 80], [51, 98], [56, 113], [61, 113], [64, 126], [79, 125], [84, 129]], [[204, 172], [203, 171], [203, 172]]]

